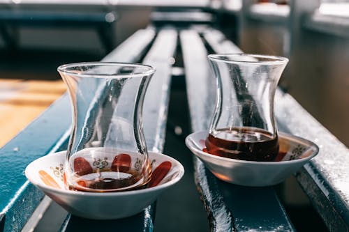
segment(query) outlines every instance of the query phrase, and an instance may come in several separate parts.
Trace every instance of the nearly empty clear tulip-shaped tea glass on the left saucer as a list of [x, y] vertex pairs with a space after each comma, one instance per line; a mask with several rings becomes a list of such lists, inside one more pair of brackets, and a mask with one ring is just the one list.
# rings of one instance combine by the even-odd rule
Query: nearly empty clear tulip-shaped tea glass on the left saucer
[[61, 65], [57, 70], [68, 86], [73, 111], [66, 186], [114, 192], [148, 183], [151, 167], [142, 105], [154, 68], [91, 62]]

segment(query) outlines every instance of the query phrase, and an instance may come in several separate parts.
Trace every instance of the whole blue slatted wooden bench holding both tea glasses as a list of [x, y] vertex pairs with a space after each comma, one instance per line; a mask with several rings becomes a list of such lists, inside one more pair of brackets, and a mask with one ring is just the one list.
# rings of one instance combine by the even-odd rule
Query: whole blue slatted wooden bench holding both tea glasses
[[[143, 29], [103, 59], [143, 62], [157, 69], [144, 101], [143, 124], [149, 150], [163, 150], [172, 56], [177, 45], [181, 47], [179, 59], [184, 61], [182, 68], [186, 77], [192, 130], [206, 130], [216, 95], [207, 54], [242, 52], [226, 40], [220, 31], [198, 26], [192, 29], [166, 26], [158, 31]], [[306, 164], [296, 173], [296, 177], [329, 229], [348, 231], [348, 197], [347, 192], [343, 191], [346, 182], [341, 182], [348, 180], [348, 149], [287, 93], [277, 91], [275, 110], [281, 131], [306, 137], [320, 146], [320, 159], [315, 158]], [[19, 231], [23, 226], [29, 231], [40, 220], [37, 215], [40, 210], [45, 210], [47, 200], [42, 201], [43, 194], [28, 183], [23, 170], [32, 160], [66, 148], [69, 116], [70, 105], [67, 95], [64, 95], [1, 148], [0, 231]], [[330, 164], [338, 166], [338, 169], [331, 170]], [[295, 231], [274, 187], [252, 188], [224, 183], [215, 178], [197, 158], [194, 158], [194, 171], [195, 183], [207, 209], [211, 231]], [[154, 215], [153, 204], [138, 215], [103, 224], [105, 228], [117, 228], [118, 231], [153, 231]], [[100, 228], [98, 221], [68, 215], [61, 231]]]

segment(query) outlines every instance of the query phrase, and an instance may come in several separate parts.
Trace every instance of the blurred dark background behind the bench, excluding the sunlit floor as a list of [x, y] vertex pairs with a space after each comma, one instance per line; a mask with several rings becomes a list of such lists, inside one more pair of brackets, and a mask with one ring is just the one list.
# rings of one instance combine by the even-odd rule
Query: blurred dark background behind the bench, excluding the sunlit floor
[[209, 13], [244, 52], [290, 58], [280, 85], [348, 146], [349, 1], [1, 0], [0, 78], [59, 79], [98, 61], [158, 10]]

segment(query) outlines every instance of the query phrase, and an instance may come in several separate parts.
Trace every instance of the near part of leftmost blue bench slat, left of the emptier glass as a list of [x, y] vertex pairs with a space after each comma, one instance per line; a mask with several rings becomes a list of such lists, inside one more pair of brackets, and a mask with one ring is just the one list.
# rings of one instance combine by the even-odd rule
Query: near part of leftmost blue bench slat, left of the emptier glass
[[68, 96], [64, 95], [1, 148], [0, 214], [6, 215], [4, 231], [20, 231], [42, 199], [43, 193], [27, 181], [24, 169], [64, 145], [69, 116]]

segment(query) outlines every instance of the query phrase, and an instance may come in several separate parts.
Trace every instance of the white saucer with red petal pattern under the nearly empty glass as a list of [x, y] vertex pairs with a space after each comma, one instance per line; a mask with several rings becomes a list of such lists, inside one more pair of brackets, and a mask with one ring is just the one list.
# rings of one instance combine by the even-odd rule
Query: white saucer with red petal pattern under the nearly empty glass
[[[135, 215], [153, 203], [159, 194], [177, 183], [184, 175], [184, 167], [177, 160], [161, 153], [149, 152], [155, 174], [151, 179], [156, 176], [158, 180], [161, 179], [159, 183], [154, 184], [156, 186], [124, 192], [79, 192], [67, 190], [64, 185], [65, 158], [66, 151], [40, 157], [28, 165], [25, 175], [31, 183], [68, 212], [89, 219], [119, 219]], [[166, 174], [161, 176], [156, 173]]]

